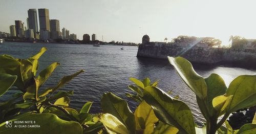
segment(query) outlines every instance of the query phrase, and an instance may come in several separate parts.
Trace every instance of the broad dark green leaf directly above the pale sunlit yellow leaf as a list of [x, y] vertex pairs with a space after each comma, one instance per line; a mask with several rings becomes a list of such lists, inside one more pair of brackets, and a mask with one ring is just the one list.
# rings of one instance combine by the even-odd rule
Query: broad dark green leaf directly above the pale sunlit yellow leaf
[[103, 113], [115, 116], [131, 133], [135, 133], [135, 117], [125, 100], [112, 93], [105, 93], [100, 104]]

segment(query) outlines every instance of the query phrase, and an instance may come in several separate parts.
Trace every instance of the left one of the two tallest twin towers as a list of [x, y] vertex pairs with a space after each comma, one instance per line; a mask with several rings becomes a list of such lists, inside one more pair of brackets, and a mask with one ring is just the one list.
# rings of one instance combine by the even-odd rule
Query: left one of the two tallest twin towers
[[[36, 9], [29, 9], [28, 16], [29, 16], [27, 19], [28, 29], [33, 29], [34, 37], [36, 37], [36, 33], [38, 33]], [[48, 11], [48, 17], [49, 17], [49, 11]]]

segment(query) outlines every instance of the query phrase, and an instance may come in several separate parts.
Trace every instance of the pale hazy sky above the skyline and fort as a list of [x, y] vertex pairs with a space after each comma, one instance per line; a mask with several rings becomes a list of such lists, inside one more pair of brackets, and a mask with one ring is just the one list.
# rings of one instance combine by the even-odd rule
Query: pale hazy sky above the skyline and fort
[[[10, 33], [14, 20], [27, 26], [27, 10], [47, 8], [60, 28], [82, 39], [84, 33], [104, 41], [171, 40], [178, 35], [216, 37], [228, 44], [230, 35], [256, 38], [256, 2], [253, 0], [0, 0], [0, 31]], [[38, 13], [38, 10], [37, 10]], [[38, 21], [39, 23], [39, 21]], [[39, 27], [39, 24], [38, 24]]]

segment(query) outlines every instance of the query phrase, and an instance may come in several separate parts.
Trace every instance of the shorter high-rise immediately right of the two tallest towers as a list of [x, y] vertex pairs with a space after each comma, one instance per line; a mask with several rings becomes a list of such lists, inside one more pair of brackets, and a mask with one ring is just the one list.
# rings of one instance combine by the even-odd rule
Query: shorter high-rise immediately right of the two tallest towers
[[50, 37], [52, 39], [57, 39], [59, 37], [59, 32], [59, 20], [50, 19]]

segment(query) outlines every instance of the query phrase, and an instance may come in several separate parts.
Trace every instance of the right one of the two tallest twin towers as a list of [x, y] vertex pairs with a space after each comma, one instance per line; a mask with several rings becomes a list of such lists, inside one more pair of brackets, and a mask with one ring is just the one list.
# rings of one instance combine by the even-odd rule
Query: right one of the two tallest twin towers
[[38, 9], [40, 39], [47, 40], [50, 38], [50, 19], [48, 9]]

